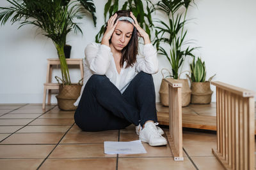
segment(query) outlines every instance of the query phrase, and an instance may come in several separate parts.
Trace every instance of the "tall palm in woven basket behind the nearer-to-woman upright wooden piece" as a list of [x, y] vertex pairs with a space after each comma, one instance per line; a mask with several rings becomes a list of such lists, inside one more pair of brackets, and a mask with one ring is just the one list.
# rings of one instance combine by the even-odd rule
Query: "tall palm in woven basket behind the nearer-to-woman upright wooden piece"
[[[182, 106], [188, 106], [191, 90], [189, 89], [188, 79], [180, 79], [180, 74], [185, 58], [194, 56], [191, 52], [196, 48], [185, 47], [185, 45], [188, 45], [188, 41], [184, 40], [187, 34], [187, 31], [184, 31], [184, 25], [187, 23], [186, 15], [191, 2], [192, 0], [161, 0], [157, 3], [156, 8], [166, 14], [168, 23], [161, 20], [157, 21], [160, 25], [156, 26], [154, 44], [156, 44], [157, 50], [160, 51], [159, 54], [166, 56], [171, 64], [172, 74], [170, 74], [170, 77], [176, 79], [178, 83], [182, 83]], [[182, 8], [185, 9], [183, 12]], [[168, 44], [167, 51], [163, 46], [160, 46], [162, 43]], [[161, 103], [168, 106], [168, 91], [164, 88], [166, 87], [164, 84], [165, 82], [162, 80], [159, 94]]]

